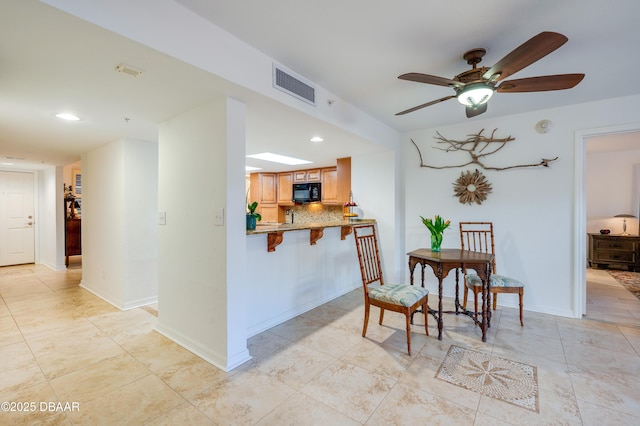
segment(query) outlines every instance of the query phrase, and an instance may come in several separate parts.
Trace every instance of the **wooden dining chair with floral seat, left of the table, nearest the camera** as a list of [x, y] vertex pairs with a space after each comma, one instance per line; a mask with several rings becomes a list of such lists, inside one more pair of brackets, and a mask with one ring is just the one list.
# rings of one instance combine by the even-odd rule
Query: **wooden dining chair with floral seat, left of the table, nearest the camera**
[[371, 305], [380, 308], [380, 325], [382, 325], [385, 309], [400, 312], [406, 317], [407, 352], [411, 356], [411, 318], [418, 308], [422, 308], [422, 312], [424, 312], [424, 331], [427, 336], [429, 335], [429, 329], [427, 328], [429, 290], [408, 284], [384, 283], [375, 225], [354, 226], [353, 235], [356, 239], [362, 286], [364, 288], [362, 337], [367, 334]]

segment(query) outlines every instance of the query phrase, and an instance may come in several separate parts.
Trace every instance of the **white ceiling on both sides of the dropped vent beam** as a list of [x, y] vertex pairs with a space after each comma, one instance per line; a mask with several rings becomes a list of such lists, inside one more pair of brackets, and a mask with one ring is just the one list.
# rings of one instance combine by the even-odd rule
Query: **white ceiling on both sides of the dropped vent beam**
[[[463, 52], [487, 49], [481, 65], [490, 66], [541, 31], [569, 41], [515, 78], [582, 72], [585, 79], [565, 91], [496, 94], [480, 119], [640, 93], [632, 81], [640, 66], [637, 0], [176, 2], [401, 132], [468, 119], [455, 100], [395, 116], [452, 94], [398, 75], [451, 78], [469, 69]], [[142, 76], [115, 72], [120, 63]], [[268, 148], [324, 165], [366, 147], [353, 135], [38, 0], [0, 3], [0, 162], [19, 157], [19, 164], [64, 165], [121, 137], [156, 140], [158, 123], [216, 93], [247, 100], [247, 153]], [[62, 110], [83, 120], [59, 122], [53, 114]], [[318, 133], [324, 144], [307, 142]]]

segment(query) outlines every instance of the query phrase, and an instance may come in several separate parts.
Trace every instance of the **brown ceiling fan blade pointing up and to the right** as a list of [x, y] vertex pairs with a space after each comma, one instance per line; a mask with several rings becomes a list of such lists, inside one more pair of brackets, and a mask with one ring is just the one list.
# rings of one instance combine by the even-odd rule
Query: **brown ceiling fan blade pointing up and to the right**
[[515, 48], [507, 56], [489, 68], [482, 76], [491, 81], [500, 81], [521, 69], [528, 67], [539, 59], [544, 58], [567, 42], [568, 38], [554, 32], [541, 32], [537, 36]]

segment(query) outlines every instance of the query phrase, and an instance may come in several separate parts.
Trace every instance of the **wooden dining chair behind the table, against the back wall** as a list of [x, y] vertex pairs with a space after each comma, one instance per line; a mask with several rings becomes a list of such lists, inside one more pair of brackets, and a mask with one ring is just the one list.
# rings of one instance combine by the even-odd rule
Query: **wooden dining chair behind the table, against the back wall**
[[[479, 251], [495, 255], [495, 244], [493, 238], [492, 222], [460, 222], [460, 244], [463, 250]], [[473, 292], [473, 305], [478, 319], [478, 294], [482, 292], [482, 280], [476, 274], [464, 272], [464, 296], [462, 300], [463, 308], [467, 309], [467, 295], [469, 290]], [[489, 287], [490, 297], [493, 297], [493, 310], [495, 311], [498, 293], [517, 293], [520, 298], [520, 325], [524, 326], [522, 318], [522, 302], [524, 299], [524, 283], [498, 275], [496, 272], [496, 259], [493, 258], [491, 264], [491, 283]], [[489, 303], [491, 299], [489, 300]]]

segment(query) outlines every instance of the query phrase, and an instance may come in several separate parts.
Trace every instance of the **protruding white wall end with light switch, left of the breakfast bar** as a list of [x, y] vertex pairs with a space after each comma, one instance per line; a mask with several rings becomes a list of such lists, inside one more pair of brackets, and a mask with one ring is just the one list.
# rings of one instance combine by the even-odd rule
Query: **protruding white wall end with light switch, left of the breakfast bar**
[[[244, 219], [244, 170], [237, 167], [244, 161], [237, 130], [243, 120], [237, 101], [221, 97], [162, 124], [159, 138], [158, 205], [166, 225], [159, 232], [156, 329], [224, 370], [250, 358], [245, 282], [229, 282], [243, 279], [237, 269], [245, 267], [237, 218]], [[237, 195], [228, 196], [228, 181]], [[216, 225], [218, 209], [234, 217]]]

